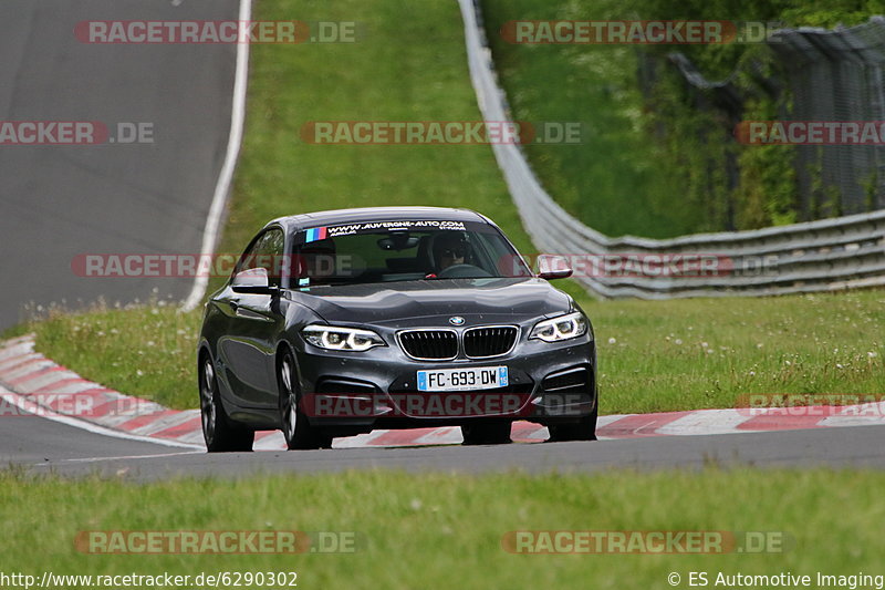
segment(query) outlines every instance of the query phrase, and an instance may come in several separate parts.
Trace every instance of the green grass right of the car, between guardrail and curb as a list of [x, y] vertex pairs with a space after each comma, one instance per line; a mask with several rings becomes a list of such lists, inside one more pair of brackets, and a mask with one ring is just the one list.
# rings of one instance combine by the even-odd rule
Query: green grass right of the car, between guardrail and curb
[[[752, 393], [885, 391], [885, 291], [585, 304], [604, 413], [733, 407]], [[614, 342], [611, 341], [614, 339]]]

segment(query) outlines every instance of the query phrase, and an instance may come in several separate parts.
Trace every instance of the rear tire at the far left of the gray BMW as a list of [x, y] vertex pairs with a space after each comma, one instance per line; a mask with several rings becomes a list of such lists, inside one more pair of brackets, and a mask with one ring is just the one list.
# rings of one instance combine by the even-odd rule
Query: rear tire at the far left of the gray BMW
[[252, 451], [254, 431], [232, 423], [221, 404], [218, 377], [209, 354], [202, 355], [199, 368], [200, 422], [202, 438], [209, 453]]

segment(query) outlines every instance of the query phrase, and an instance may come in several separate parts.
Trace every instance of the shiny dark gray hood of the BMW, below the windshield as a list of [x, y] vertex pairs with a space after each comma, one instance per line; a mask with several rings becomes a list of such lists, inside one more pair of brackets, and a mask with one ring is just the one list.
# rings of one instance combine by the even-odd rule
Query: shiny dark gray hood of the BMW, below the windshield
[[[571, 298], [535, 278], [436, 279], [311, 288], [293, 299], [329, 322], [394, 328], [460, 315], [476, 321], [519, 321], [569, 311]], [[421, 320], [425, 320], [421, 322]], [[436, 324], [437, 322], [429, 322]], [[448, 323], [446, 323], [448, 324]]]

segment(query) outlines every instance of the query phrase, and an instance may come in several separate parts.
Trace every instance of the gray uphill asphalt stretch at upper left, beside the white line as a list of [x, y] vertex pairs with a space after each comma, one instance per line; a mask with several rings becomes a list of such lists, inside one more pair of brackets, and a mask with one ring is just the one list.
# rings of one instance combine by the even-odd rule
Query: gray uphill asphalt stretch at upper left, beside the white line
[[[0, 121], [100, 122], [115, 143], [0, 145], [0, 330], [22, 306], [184, 299], [192, 278], [86, 278], [86, 253], [200, 251], [228, 143], [236, 44], [90, 44], [91, 20], [237, 19], [238, 0], [3, 0]], [[153, 143], [121, 143], [145, 124]], [[143, 134], [146, 139], [147, 135]]]

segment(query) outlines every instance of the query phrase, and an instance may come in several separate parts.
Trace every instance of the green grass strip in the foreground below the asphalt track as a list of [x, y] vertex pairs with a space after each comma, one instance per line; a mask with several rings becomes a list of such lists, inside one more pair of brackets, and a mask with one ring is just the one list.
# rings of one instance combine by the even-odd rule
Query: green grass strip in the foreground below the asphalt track
[[[669, 588], [689, 571], [882, 573], [885, 474], [760, 472], [528, 476], [362, 472], [219, 482], [0, 474], [6, 572], [296, 571], [299, 588]], [[339, 555], [84, 555], [82, 530], [356, 534]], [[785, 552], [512, 555], [516, 530], [780, 531]], [[39, 550], [34, 550], [39, 548]], [[814, 587], [814, 586], [812, 586]], [[258, 587], [252, 587], [258, 588]]]

